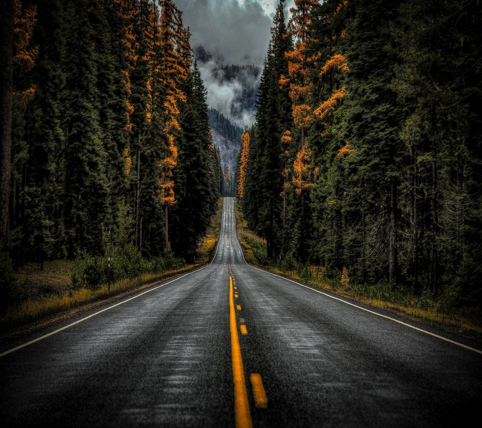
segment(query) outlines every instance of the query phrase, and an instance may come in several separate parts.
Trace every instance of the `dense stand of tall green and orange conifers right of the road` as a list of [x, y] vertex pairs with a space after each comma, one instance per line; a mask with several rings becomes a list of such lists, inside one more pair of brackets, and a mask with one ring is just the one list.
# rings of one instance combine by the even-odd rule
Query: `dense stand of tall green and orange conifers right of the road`
[[237, 170], [268, 259], [482, 303], [479, 1], [283, 3]]

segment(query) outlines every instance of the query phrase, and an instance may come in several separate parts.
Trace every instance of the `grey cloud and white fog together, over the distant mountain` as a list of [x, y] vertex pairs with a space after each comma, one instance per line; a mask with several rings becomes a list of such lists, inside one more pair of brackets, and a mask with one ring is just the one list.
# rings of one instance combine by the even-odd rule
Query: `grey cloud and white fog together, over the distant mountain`
[[209, 106], [241, 128], [254, 122], [254, 97], [276, 4], [278, 0], [176, 0], [189, 25]]

